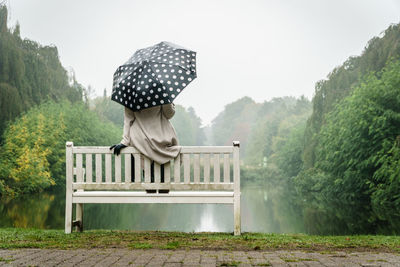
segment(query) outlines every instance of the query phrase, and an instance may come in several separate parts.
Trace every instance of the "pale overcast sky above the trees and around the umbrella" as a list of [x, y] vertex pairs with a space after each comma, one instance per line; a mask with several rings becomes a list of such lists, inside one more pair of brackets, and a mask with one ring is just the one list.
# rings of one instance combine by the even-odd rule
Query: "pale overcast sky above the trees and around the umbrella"
[[139, 48], [170, 41], [197, 52], [176, 99], [208, 124], [243, 96], [311, 98], [314, 85], [368, 40], [400, 22], [396, 0], [8, 0], [9, 26], [54, 44], [66, 69], [97, 95]]

